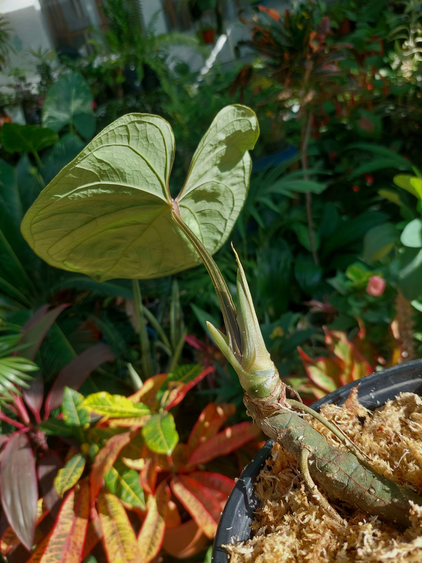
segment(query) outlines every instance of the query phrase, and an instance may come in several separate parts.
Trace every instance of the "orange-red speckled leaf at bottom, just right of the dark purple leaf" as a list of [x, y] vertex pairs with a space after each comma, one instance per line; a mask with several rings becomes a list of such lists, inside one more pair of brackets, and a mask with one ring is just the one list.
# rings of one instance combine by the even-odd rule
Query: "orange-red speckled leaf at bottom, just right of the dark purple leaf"
[[62, 504], [39, 563], [80, 563], [88, 519], [89, 485], [83, 480]]

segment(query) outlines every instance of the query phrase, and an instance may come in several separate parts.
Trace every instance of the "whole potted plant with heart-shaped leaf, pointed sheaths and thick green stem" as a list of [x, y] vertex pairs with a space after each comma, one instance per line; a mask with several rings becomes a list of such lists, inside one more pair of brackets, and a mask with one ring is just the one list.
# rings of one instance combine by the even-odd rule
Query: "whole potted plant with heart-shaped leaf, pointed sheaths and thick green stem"
[[[259, 135], [245, 106], [221, 110], [200, 141], [176, 199], [169, 191], [174, 137], [156, 115], [119, 118], [95, 137], [42, 191], [22, 233], [52, 266], [97, 280], [151, 279], [196, 266], [202, 260], [221, 304], [226, 334], [208, 324], [245, 391], [248, 412], [262, 430], [293, 455], [317, 492], [370, 515], [408, 525], [410, 490], [376, 473], [348, 439], [299, 401], [285, 385], [264, 345], [239, 257], [237, 309], [212, 254], [226, 242], [243, 207], [252, 163], [248, 151]], [[340, 452], [295, 410], [311, 412], [350, 453]]]

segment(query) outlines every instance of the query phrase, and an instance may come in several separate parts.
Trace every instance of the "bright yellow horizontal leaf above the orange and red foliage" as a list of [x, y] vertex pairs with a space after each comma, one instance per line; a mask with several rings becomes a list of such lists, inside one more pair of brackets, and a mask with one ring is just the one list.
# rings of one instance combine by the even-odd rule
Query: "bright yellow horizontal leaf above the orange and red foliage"
[[151, 414], [143, 403], [133, 403], [123, 395], [110, 395], [106, 391], [88, 395], [83, 407], [108, 418], [142, 417]]

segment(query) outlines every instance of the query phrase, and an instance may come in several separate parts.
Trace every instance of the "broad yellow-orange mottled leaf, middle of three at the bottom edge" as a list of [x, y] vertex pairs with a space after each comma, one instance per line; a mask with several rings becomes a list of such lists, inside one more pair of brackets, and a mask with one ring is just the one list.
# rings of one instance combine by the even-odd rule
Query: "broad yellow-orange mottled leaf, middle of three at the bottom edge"
[[98, 495], [98, 516], [107, 561], [139, 563], [140, 553], [136, 535], [122, 503], [114, 494], [101, 491]]

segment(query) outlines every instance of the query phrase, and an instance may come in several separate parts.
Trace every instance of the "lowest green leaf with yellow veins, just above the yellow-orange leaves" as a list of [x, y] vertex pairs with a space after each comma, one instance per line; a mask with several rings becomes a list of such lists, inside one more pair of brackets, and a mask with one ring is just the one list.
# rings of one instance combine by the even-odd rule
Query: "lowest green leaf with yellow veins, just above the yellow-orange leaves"
[[113, 467], [104, 473], [104, 482], [111, 493], [120, 501], [134, 508], [145, 510], [145, 498], [139, 480], [139, 473], [118, 459]]

